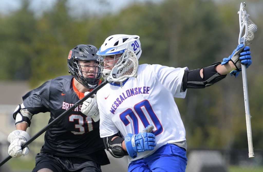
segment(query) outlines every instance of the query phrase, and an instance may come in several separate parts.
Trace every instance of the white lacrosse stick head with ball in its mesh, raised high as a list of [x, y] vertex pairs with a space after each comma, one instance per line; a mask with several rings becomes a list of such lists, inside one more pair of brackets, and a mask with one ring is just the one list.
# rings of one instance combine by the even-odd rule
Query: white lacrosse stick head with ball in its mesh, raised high
[[[250, 44], [248, 41], [251, 41], [254, 39], [254, 33], [257, 32], [257, 26], [255, 23], [251, 21], [249, 18], [249, 14], [246, 13], [245, 10], [245, 2], [240, 4], [240, 10], [237, 12], [239, 14], [239, 44]], [[245, 32], [244, 32], [245, 28]], [[242, 36], [242, 33], [244, 32], [244, 35]]]

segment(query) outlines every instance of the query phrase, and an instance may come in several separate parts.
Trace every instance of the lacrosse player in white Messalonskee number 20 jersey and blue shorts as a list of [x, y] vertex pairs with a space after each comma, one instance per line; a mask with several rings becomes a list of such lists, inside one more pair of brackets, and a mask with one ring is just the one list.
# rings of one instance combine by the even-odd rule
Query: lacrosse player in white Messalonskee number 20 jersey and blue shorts
[[[108, 37], [97, 54], [104, 59], [104, 79], [116, 82], [97, 92], [90, 109], [98, 105], [106, 149], [116, 158], [127, 156], [128, 171], [133, 172], [185, 171], [185, 128], [174, 97], [184, 98], [187, 88], [213, 85], [229, 72], [236, 77], [241, 64], [252, 63], [250, 48], [240, 44], [222, 62], [196, 70], [138, 65], [139, 36], [123, 34]], [[92, 111], [85, 114], [92, 116]]]

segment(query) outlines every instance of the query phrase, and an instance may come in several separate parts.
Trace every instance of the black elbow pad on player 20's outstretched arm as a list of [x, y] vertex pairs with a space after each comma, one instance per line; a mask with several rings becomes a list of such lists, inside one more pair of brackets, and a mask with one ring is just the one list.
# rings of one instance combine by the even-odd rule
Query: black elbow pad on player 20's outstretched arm
[[215, 66], [218, 64], [220, 64], [220, 62], [203, 68], [203, 78], [200, 76], [201, 69], [185, 71], [183, 76], [183, 91], [185, 91], [187, 88], [205, 88], [224, 79], [226, 75], [220, 75], [215, 70]]

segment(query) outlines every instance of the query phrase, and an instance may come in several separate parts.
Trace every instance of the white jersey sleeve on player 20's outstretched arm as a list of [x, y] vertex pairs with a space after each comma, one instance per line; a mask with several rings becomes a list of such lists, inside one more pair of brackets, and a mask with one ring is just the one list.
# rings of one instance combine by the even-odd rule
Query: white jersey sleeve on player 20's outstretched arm
[[159, 82], [171, 93], [174, 97], [185, 98], [186, 91], [181, 91], [184, 71], [188, 70], [184, 68], [174, 68], [162, 65], [151, 65], [153, 73]]

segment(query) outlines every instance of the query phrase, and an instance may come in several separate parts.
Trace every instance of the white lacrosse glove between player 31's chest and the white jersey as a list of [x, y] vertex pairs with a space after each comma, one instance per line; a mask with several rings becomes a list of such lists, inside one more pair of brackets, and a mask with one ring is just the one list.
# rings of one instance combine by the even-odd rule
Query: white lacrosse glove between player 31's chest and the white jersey
[[[84, 96], [87, 95], [88, 93], [89, 91], [85, 92]], [[89, 97], [87, 100], [83, 102], [81, 107], [81, 113], [89, 117], [92, 117], [93, 121], [95, 122], [99, 121], [97, 96], [95, 94], [93, 94], [92, 97]]]

